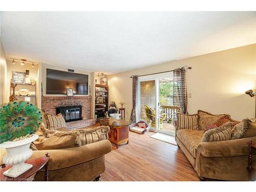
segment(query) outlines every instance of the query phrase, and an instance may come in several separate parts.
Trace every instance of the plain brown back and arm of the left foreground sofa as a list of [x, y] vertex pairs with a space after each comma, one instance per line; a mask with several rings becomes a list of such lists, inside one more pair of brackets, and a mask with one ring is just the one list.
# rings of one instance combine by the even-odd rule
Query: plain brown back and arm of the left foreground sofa
[[[61, 129], [60, 131], [68, 130]], [[49, 181], [92, 181], [98, 180], [104, 172], [104, 155], [111, 150], [110, 141], [104, 139], [78, 147], [33, 151], [31, 158], [44, 157], [46, 153], [49, 153]], [[1, 149], [1, 164], [5, 155], [6, 150]], [[44, 181], [44, 179], [45, 172], [41, 169], [36, 174], [35, 180]]]

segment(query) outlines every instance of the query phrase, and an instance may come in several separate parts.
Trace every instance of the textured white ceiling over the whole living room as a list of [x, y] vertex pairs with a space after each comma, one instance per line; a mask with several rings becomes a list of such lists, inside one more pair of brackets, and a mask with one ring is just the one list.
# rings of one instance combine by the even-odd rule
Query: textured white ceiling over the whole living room
[[256, 42], [256, 12], [2, 12], [8, 56], [109, 74]]

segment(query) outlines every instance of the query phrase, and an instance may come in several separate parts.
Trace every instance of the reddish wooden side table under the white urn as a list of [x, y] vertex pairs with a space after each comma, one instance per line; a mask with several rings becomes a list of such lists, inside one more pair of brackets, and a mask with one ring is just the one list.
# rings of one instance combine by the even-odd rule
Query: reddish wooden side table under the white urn
[[24, 172], [22, 175], [19, 175], [18, 177], [7, 177], [4, 175], [4, 172], [12, 167], [12, 165], [5, 165], [2, 164], [0, 167], [0, 181], [33, 181], [35, 174], [43, 167], [45, 167], [45, 181], [48, 181], [48, 161], [49, 161], [49, 155], [46, 154], [45, 157], [38, 157], [33, 158], [25, 161], [25, 163], [32, 164], [33, 167], [28, 169], [26, 172]]

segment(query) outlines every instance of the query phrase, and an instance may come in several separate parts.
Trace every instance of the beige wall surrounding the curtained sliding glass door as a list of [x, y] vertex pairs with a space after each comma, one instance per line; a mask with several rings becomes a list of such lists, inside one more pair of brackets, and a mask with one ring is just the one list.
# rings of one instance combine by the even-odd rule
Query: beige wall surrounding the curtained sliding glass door
[[[187, 77], [188, 113], [205, 110], [228, 113], [233, 119], [255, 117], [255, 97], [244, 94], [255, 91], [256, 44], [216, 53], [167, 62], [129, 72], [109, 75], [110, 101], [125, 102], [126, 118], [132, 109], [131, 75], [143, 75], [189, 66]], [[119, 104], [118, 104], [119, 105]]]

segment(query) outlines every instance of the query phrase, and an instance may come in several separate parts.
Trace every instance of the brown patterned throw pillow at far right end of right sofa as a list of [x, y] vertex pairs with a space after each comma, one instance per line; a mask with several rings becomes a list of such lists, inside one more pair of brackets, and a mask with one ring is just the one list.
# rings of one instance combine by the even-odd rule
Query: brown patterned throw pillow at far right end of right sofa
[[242, 122], [234, 125], [231, 139], [240, 139], [256, 136], [256, 122], [253, 119], [243, 119]]

